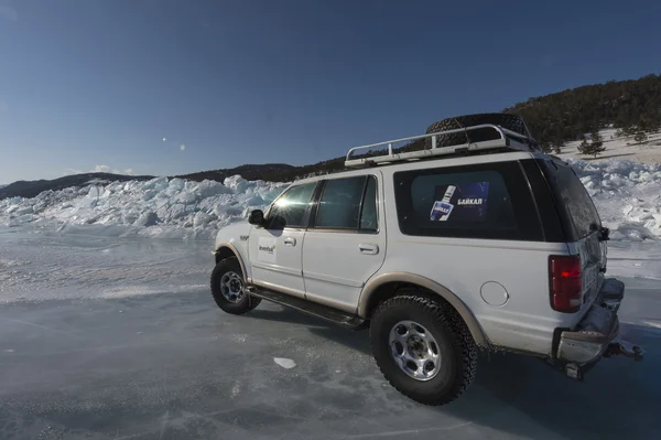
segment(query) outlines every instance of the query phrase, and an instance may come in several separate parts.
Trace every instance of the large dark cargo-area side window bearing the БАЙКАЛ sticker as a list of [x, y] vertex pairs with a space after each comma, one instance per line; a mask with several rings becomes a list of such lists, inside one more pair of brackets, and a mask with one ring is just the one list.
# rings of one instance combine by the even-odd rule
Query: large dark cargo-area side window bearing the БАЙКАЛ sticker
[[398, 172], [394, 186], [403, 234], [543, 240], [517, 162]]

